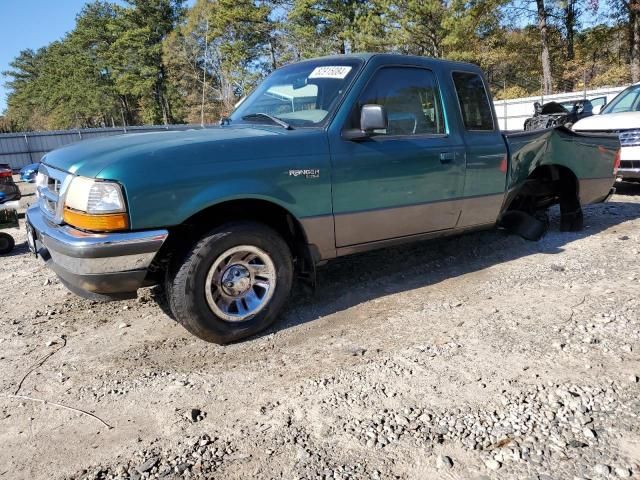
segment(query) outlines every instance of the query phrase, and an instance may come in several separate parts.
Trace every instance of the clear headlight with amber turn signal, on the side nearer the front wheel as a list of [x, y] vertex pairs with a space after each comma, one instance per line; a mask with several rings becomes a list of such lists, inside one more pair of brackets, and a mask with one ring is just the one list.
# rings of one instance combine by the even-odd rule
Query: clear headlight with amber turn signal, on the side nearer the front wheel
[[65, 197], [64, 220], [83, 230], [125, 230], [129, 221], [122, 188], [115, 182], [75, 177]]

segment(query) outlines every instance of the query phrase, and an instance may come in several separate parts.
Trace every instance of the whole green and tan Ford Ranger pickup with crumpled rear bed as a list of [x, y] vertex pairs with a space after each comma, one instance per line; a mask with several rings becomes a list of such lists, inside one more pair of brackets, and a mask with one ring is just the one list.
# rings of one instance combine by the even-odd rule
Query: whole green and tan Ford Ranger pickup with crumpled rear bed
[[[42, 161], [32, 249], [97, 298], [164, 284], [175, 319], [226, 343], [277, 318], [333, 258], [503, 226], [582, 227], [613, 192], [615, 136], [500, 132], [474, 65], [341, 55], [276, 70], [217, 128], [80, 142]], [[428, 248], [428, 247], [425, 247]]]

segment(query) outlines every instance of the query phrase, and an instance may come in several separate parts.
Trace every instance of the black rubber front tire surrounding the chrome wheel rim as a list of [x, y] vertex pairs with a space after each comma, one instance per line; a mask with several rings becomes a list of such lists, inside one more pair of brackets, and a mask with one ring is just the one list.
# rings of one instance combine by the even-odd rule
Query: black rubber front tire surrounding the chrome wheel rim
[[[213, 263], [224, 252], [250, 245], [266, 252], [276, 270], [271, 299], [247, 320], [227, 321], [207, 303], [205, 284]], [[167, 270], [167, 302], [178, 323], [207, 342], [225, 344], [258, 333], [273, 324], [284, 307], [293, 282], [291, 250], [273, 229], [256, 222], [222, 225], [202, 237], [186, 255]]]

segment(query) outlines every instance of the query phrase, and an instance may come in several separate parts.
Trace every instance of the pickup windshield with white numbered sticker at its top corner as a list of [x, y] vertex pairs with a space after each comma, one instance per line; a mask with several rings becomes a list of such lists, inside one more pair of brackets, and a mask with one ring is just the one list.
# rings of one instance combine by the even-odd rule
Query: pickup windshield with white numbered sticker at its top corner
[[324, 125], [362, 66], [357, 58], [322, 59], [280, 68], [231, 114], [236, 123]]

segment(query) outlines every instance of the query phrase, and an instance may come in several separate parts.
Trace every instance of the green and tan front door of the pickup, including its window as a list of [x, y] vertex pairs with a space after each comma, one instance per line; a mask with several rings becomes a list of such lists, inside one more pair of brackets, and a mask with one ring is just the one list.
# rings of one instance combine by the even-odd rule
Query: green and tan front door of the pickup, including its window
[[345, 130], [359, 128], [361, 108], [369, 104], [385, 108], [385, 130], [330, 140], [336, 246], [453, 228], [461, 212], [465, 147], [448, 129], [434, 73], [379, 68]]

